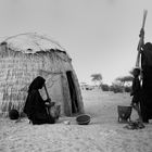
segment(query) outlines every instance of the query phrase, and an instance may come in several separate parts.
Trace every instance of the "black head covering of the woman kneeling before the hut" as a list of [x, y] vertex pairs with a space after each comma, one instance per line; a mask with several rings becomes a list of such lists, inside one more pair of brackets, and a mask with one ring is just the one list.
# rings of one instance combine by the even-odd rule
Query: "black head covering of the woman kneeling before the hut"
[[40, 77], [40, 76], [36, 77], [36, 78], [31, 81], [31, 84], [30, 84], [30, 86], [29, 86], [29, 88], [28, 88], [28, 92], [30, 92], [31, 90], [41, 89], [42, 86], [45, 85], [45, 81], [46, 81], [45, 78], [42, 78], [42, 77]]

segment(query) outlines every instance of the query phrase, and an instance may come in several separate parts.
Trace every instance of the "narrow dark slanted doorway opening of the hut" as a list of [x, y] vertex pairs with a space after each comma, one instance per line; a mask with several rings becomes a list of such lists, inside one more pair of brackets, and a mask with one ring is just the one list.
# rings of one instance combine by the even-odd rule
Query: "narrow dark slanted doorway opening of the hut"
[[69, 93], [71, 93], [72, 113], [75, 114], [78, 113], [78, 101], [77, 101], [75, 84], [73, 80], [73, 73], [71, 71], [66, 72], [66, 77], [67, 77]]

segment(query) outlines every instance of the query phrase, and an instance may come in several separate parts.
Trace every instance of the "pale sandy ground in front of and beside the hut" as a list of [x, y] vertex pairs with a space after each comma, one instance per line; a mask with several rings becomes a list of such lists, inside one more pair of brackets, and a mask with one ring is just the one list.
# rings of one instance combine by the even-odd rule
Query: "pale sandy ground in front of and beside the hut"
[[[152, 152], [152, 123], [128, 130], [117, 122], [117, 105], [129, 105], [128, 93], [83, 91], [89, 125], [60, 117], [54, 125], [30, 125], [0, 118], [0, 152]], [[132, 111], [131, 119], [138, 118]], [[71, 121], [71, 125], [64, 124]]]

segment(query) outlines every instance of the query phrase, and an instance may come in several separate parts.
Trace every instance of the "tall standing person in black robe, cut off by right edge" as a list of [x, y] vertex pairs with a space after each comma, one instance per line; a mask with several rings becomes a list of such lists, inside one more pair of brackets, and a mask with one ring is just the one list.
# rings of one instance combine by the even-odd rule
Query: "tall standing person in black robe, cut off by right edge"
[[152, 118], [152, 43], [147, 42], [141, 53], [142, 102], [141, 115], [144, 123]]

